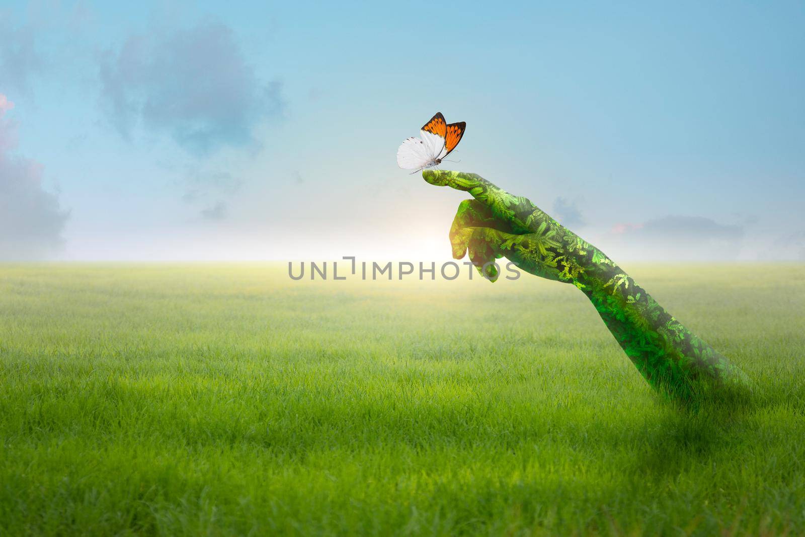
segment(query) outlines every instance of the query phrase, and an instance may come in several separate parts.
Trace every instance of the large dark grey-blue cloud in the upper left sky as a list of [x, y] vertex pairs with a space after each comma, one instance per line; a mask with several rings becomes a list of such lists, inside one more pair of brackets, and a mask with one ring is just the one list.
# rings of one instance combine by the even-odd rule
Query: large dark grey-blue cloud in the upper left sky
[[139, 126], [195, 155], [254, 146], [255, 128], [281, 114], [279, 83], [262, 84], [221, 23], [131, 35], [101, 59], [101, 101], [126, 139]]

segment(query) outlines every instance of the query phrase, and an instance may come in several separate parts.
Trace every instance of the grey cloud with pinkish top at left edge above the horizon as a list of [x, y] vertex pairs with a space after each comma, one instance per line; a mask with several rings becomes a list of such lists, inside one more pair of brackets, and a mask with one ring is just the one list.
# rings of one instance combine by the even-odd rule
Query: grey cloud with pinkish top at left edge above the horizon
[[62, 246], [69, 213], [43, 189], [41, 164], [10, 155], [16, 133], [3, 114], [12, 106], [0, 94], [0, 259], [45, 258]]

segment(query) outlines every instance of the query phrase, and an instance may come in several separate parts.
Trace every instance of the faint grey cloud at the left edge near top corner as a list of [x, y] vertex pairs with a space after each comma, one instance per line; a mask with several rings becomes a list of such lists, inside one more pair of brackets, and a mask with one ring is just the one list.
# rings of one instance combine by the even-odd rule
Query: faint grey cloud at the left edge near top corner
[[36, 52], [31, 27], [14, 28], [9, 18], [0, 18], [0, 81], [6, 90], [31, 92], [31, 78], [43, 67]]

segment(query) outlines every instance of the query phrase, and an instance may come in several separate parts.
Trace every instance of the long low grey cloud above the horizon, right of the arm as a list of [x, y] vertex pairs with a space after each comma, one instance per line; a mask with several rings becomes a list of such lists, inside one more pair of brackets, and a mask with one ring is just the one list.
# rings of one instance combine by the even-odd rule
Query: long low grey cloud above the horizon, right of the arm
[[726, 261], [737, 258], [744, 234], [741, 225], [707, 217], [667, 216], [614, 225], [606, 241], [624, 258]]

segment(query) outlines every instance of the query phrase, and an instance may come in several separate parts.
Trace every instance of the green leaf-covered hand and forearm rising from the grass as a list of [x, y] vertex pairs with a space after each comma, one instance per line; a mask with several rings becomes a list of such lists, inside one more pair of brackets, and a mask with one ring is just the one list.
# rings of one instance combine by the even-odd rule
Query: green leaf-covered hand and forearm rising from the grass
[[423, 171], [436, 186], [469, 192], [450, 229], [453, 257], [469, 258], [489, 280], [506, 257], [533, 275], [572, 283], [651, 386], [690, 399], [712, 386], [749, 386], [745, 374], [668, 314], [611, 259], [524, 197], [481, 176]]

